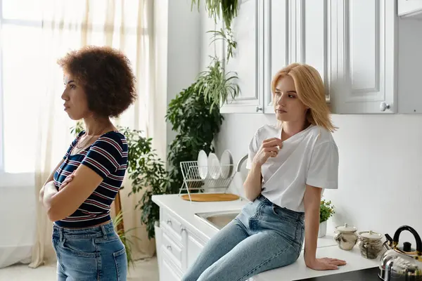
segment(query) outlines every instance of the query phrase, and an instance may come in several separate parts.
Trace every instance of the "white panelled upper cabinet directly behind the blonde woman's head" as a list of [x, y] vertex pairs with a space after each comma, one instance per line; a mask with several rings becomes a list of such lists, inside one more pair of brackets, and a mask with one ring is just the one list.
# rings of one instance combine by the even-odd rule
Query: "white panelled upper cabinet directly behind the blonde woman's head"
[[335, 113], [397, 112], [394, 1], [274, 0], [267, 15], [266, 113], [274, 112], [271, 78], [295, 62], [319, 71]]

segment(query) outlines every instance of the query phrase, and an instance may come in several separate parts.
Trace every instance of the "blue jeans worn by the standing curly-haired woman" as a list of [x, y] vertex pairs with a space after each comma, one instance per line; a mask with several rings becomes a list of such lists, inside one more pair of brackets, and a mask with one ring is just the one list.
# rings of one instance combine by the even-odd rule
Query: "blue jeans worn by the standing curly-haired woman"
[[113, 223], [84, 229], [53, 226], [58, 281], [126, 280], [126, 250]]

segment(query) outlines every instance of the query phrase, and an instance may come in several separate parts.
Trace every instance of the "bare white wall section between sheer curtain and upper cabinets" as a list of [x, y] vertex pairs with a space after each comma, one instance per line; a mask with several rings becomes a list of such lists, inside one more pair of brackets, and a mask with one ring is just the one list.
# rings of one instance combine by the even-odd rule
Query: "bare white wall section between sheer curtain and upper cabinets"
[[[200, 13], [191, 0], [155, 0], [155, 97], [151, 136], [166, 140], [155, 147], [162, 159], [176, 133], [165, 122], [167, 105], [195, 81], [200, 65]], [[163, 130], [162, 128], [166, 128]]]

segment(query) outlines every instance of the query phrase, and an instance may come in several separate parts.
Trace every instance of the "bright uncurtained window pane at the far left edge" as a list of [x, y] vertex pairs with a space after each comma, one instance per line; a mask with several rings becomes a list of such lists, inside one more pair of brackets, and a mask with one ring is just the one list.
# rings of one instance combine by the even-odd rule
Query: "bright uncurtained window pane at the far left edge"
[[[33, 171], [31, 143], [41, 65], [41, 0], [0, 0], [0, 172]], [[23, 161], [25, 159], [25, 161]]]

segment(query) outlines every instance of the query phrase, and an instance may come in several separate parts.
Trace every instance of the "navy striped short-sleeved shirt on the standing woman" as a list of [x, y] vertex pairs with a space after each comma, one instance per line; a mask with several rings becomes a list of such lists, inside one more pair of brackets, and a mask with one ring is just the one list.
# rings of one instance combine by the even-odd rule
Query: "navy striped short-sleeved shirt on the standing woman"
[[72, 174], [80, 164], [89, 167], [103, 178], [103, 182], [89, 195], [87, 200], [67, 218], [56, 221], [58, 226], [65, 228], [86, 228], [110, 220], [110, 205], [122, 185], [127, 168], [127, 142], [118, 131], [109, 131], [98, 138], [91, 146], [70, 155], [79, 138], [85, 131], [79, 133], [72, 142], [65, 161], [54, 173], [54, 184], [59, 188], [67, 176]]

